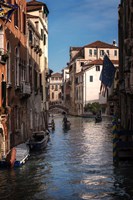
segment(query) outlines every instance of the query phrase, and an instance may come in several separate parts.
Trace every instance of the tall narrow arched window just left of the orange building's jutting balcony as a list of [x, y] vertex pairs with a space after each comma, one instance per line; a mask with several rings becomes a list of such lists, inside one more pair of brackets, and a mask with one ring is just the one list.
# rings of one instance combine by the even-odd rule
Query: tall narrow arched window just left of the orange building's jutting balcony
[[20, 77], [19, 77], [19, 48], [15, 49], [15, 86], [20, 86]]

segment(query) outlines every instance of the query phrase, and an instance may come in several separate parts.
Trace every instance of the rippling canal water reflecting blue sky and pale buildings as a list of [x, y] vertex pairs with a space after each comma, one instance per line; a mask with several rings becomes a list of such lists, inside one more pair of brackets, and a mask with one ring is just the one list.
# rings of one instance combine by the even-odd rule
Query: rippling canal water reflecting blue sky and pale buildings
[[71, 129], [55, 131], [47, 148], [21, 168], [0, 170], [0, 200], [131, 200], [133, 166], [113, 166], [111, 119], [71, 117]]

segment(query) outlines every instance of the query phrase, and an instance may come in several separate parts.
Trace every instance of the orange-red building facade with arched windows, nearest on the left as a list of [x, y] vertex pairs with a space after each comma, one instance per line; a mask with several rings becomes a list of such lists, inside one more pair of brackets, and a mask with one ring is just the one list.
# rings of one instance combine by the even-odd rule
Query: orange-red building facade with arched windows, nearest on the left
[[[15, 1], [10, 3], [14, 5]], [[6, 61], [0, 62], [0, 107], [6, 120], [5, 153], [25, 139], [27, 124], [27, 98], [24, 101], [21, 98], [21, 86], [27, 70], [26, 1], [18, 1], [18, 6], [21, 9], [17, 9], [6, 24], [4, 19], [0, 19], [0, 49], [8, 54]]]

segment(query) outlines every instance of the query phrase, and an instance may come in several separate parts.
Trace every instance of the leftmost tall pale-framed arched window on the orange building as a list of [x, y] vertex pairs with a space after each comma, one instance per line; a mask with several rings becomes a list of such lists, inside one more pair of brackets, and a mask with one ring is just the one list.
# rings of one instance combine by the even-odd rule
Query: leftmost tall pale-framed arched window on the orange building
[[7, 53], [8, 53], [8, 59], [7, 59], [7, 85], [11, 85], [11, 46], [10, 43], [7, 43]]

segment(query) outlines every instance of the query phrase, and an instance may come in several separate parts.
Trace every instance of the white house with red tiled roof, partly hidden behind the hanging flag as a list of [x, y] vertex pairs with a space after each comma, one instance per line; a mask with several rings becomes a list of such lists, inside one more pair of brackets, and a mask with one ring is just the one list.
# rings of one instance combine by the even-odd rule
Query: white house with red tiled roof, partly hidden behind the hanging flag
[[[114, 100], [114, 91], [118, 87], [118, 60], [111, 60], [116, 68], [115, 78], [110, 88], [107, 88], [106, 93], [101, 90], [100, 75], [103, 68], [103, 60], [98, 59], [90, 62], [83, 70], [83, 107], [86, 104], [97, 102], [101, 105], [101, 111], [105, 114], [114, 114], [116, 109], [116, 100]], [[110, 97], [112, 96], [112, 99]], [[109, 100], [110, 99], [110, 100]]]

